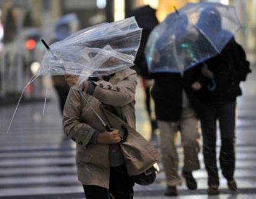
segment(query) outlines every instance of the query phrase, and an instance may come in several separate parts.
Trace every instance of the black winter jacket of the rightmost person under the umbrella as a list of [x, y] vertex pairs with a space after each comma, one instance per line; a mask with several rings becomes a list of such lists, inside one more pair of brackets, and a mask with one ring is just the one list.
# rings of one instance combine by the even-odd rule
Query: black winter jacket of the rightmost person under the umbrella
[[234, 38], [229, 41], [221, 54], [206, 61], [207, 67], [214, 75], [216, 89], [208, 90], [211, 81], [202, 76], [201, 67], [197, 66], [198, 78], [203, 88], [199, 92], [193, 92], [196, 100], [199, 100], [195, 106], [197, 111], [200, 110], [201, 102], [211, 105], [222, 105], [223, 103], [236, 100], [237, 96], [242, 95], [240, 82], [246, 80], [246, 76], [251, 72], [249, 69], [249, 61], [246, 60], [246, 54], [240, 44], [236, 43]]

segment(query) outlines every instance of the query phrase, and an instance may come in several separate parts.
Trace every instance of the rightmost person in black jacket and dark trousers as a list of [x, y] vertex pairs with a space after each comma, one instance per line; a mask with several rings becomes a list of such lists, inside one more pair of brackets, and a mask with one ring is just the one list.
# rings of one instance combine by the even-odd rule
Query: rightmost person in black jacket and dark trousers
[[[207, 12], [204, 15], [207, 15]], [[249, 62], [246, 60], [242, 46], [232, 38], [221, 54], [195, 68], [198, 69], [199, 75], [192, 84], [194, 91], [190, 92], [190, 97], [193, 99], [193, 106], [201, 121], [204, 163], [208, 173], [208, 194], [219, 193], [216, 163], [217, 120], [221, 136], [220, 168], [228, 182], [229, 189], [236, 191], [237, 185], [234, 180], [236, 97], [242, 95], [240, 82], [245, 81], [246, 76], [251, 72]], [[210, 78], [216, 82], [214, 89], [210, 89], [213, 87]]]

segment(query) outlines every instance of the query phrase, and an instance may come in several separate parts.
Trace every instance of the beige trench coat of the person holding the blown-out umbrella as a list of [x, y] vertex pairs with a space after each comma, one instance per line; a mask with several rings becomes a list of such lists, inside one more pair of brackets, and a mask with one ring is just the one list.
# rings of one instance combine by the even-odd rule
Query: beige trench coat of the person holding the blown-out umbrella
[[[133, 145], [134, 139], [140, 135], [136, 134], [135, 130], [135, 91], [137, 76], [136, 72], [131, 69], [125, 69], [117, 72], [109, 82], [97, 81], [93, 96], [85, 94], [92, 106], [107, 121], [107, 115], [104, 114], [101, 108], [101, 102], [107, 105], [112, 105], [116, 109], [120, 117], [125, 118], [130, 126], [126, 145]], [[78, 180], [83, 185], [96, 185], [108, 188], [110, 179], [110, 162], [108, 159], [108, 144], [90, 144], [90, 139], [96, 130], [104, 132], [99, 119], [96, 117], [89, 105], [83, 99], [81, 94], [73, 89], [70, 89], [69, 96], [66, 100], [66, 105], [63, 112], [63, 127], [64, 133], [73, 141], [76, 142], [76, 165]], [[134, 132], [134, 133], [133, 133]], [[140, 138], [141, 139], [141, 138]], [[121, 144], [122, 148], [122, 144]], [[158, 152], [152, 147], [149, 142], [140, 142], [140, 148], [143, 153], [151, 157], [146, 162], [159, 160]], [[148, 150], [143, 151], [143, 149]], [[129, 149], [125, 149], [128, 150]], [[126, 152], [125, 152], [126, 153]], [[128, 152], [129, 153], [129, 152]], [[133, 153], [133, 152], [131, 152]], [[134, 159], [134, 165], [131, 167], [130, 173], [139, 174], [145, 158]], [[136, 170], [136, 168], [140, 168]], [[129, 171], [128, 171], [129, 173]]]

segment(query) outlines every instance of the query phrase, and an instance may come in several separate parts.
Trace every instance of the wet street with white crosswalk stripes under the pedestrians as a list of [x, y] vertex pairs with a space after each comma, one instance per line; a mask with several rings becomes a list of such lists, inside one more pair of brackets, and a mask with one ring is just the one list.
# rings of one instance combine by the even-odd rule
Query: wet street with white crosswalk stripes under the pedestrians
[[[201, 170], [195, 171], [198, 190], [178, 187], [178, 198], [256, 198], [256, 68], [242, 84], [243, 97], [237, 100], [236, 180], [239, 192], [232, 194], [220, 174], [220, 195], [208, 197], [207, 175], [199, 155]], [[43, 103], [20, 105], [10, 132], [8, 122], [14, 106], [0, 108], [0, 198], [83, 198], [83, 188], [76, 177], [75, 144], [63, 135], [61, 115], [55, 97]], [[143, 91], [137, 88], [137, 130], [150, 138], [150, 126], [143, 105]], [[219, 152], [220, 140], [218, 140]], [[180, 168], [182, 148], [178, 145]], [[160, 164], [160, 168], [162, 165]], [[135, 186], [134, 198], [164, 197], [163, 170], [150, 186]], [[175, 197], [173, 197], [175, 198]]]

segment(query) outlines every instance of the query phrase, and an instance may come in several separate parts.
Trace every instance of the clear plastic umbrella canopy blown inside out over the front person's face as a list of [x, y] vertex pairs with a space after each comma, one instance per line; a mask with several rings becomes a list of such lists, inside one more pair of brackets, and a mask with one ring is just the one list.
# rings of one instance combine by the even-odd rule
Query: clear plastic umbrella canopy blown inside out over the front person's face
[[102, 23], [57, 41], [46, 52], [39, 75], [107, 76], [133, 66], [142, 29], [134, 17]]

